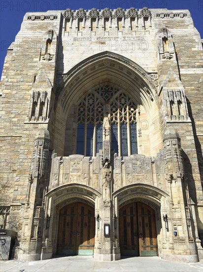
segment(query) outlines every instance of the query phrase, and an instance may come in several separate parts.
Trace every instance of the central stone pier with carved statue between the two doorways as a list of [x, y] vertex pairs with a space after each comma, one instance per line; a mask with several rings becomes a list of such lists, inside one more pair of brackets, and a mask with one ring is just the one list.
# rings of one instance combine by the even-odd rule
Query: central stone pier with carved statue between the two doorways
[[99, 261], [114, 261], [120, 259], [120, 252], [115, 251], [114, 219], [112, 205], [112, 167], [110, 162], [110, 118], [109, 110], [105, 108], [103, 119], [103, 160], [102, 160], [102, 199], [100, 200], [99, 243], [94, 250], [94, 258]]

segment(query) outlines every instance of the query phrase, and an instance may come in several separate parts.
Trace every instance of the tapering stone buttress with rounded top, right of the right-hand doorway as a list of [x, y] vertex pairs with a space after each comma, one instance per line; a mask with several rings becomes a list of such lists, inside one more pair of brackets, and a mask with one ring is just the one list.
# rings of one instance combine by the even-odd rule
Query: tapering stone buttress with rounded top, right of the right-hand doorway
[[[189, 205], [184, 188], [184, 169], [181, 155], [180, 138], [173, 128], [166, 130], [164, 135], [166, 158], [166, 179], [170, 190], [168, 208], [170, 247], [163, 258], [172, 261], [197, 262], [198, 256], [194, 237], [191, 237], [192, 226]], [[174, 233], [176, 231], [176, 233]], [[195, 229], [194, 229], [195, 231]]]

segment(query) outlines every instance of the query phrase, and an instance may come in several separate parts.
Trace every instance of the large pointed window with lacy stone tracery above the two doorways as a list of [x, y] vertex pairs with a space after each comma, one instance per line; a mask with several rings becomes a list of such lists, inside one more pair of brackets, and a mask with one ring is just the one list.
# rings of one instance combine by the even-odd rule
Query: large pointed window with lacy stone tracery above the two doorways
[[111, 149], [118, 156], [137, 154], [137, 105], [122, 90], [101, 86], [77, 105], [77, 154], [95, 156], [102, 149], [104, 106], [110, 108]]

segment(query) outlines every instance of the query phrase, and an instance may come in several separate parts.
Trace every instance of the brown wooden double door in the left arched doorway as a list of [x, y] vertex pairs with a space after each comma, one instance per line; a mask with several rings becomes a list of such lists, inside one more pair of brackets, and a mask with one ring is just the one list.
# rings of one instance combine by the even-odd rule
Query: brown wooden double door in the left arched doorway
[[60, 210], [58, 227], [59, 255], [93, 255], [95, 244], [94, 208], [72, 203]]

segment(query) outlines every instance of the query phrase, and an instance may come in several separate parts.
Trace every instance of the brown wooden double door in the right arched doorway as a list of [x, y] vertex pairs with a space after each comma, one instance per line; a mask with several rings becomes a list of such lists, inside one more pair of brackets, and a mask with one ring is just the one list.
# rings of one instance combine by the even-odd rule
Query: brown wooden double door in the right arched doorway
[[155, 211], [141, 202], [119, 210], [121, 255], [157, 256]]

